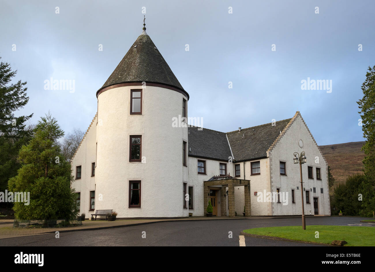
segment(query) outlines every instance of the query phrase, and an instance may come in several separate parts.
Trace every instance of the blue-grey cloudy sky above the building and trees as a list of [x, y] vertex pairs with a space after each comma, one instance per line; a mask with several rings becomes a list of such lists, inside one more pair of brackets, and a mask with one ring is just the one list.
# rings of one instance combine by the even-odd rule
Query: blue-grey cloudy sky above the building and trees
[[[319, 145], [346, 143], [363, 140], [356, 101], [375, 65], [374, 10], [372, 0], [1, 0], [0, 56], [27, 81], [30, 101], [19, 114], [37, 122], [50, 110], [64, 131], [86, 131], [96, 91], [145, 15], [147, 34], [190, 95], [189, 116], [205, 128], [228, 132], [300, 111]], [[51, 77], [75, 80], [74, 92], [45, 90]], [[302, 90], [308, 77], [332, 80], [331, 89]]]

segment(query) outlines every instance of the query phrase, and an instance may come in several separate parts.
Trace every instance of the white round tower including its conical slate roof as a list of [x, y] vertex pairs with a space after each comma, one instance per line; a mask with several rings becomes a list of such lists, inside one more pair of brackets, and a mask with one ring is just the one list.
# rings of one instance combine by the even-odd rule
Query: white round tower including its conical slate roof
[[189, 95], [145, 27], [96, 96], [95, 209], [187, 216], [188, 132], [172, 121], [187, 116]]

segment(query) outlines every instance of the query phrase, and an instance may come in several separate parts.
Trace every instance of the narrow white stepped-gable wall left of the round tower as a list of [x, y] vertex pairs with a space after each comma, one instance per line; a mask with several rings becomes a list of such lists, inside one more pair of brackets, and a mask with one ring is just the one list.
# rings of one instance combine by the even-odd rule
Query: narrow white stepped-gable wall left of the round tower
[[81, 178], [75, 179], [72, 188], [81, 193], [80, 214], [85, 213], [86, 218], [91, 218], [90, 214], [90, 191], [95, 191], [95, 176], [91, 176], [91, 163], [95, 162], [96, 152], [96, 116], [92, 120], [89, 129], [81, 141], [80, 147], [71, 160], [72, 175], [76, 177], [76, 166], [81, 165]]

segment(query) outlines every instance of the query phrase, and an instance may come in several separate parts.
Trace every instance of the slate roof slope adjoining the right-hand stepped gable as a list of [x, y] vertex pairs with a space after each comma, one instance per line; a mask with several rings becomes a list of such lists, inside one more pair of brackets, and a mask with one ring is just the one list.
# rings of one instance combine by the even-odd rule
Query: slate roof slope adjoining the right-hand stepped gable
[[266, 158], [267, 150], [290, 120], [291, 118], [276, 121], [275, 126], [272, 126], [272, 123], [268, 123], [241, 129], [241, 132], [238, 130], [228, 132], [227, 136], [234, 159], [236, 161], [245, 161]]

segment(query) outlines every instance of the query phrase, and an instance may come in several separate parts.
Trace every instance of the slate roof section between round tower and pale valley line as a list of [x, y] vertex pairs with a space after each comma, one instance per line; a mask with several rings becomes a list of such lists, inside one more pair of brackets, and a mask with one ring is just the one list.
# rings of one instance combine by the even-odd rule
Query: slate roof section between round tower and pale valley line
[[189, 131], [187, 136], [189, 156], [222, 161], [228, 161], [228, 157], [232, 156], [224, 132], [207, 128], [198, 130], [195, 126], [187, 129]]

